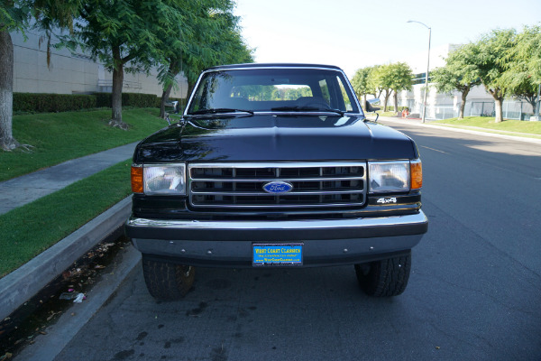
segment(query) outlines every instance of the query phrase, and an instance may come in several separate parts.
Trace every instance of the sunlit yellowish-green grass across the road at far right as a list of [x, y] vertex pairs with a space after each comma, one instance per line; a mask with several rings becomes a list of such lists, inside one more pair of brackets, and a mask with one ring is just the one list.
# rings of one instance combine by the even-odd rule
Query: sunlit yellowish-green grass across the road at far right
[[541, 122], [529, 122], [524, 120], [504, 120], [501, 123], [494, 123], [494, 118], [490, 116], [466, 116], [461, 120], [457, 118], [436, 120], [430, 122], [436, 125], [454, 125], [457, 127], [475, 126], [491, 131], [516, 132], [524, 134], [541, 135]]

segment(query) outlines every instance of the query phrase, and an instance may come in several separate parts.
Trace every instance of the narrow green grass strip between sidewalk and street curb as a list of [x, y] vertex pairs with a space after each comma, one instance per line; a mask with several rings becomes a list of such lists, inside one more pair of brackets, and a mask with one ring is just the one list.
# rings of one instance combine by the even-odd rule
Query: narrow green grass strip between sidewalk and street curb
[[0, 215], [0, 277], [128, 196], [131, 160]]

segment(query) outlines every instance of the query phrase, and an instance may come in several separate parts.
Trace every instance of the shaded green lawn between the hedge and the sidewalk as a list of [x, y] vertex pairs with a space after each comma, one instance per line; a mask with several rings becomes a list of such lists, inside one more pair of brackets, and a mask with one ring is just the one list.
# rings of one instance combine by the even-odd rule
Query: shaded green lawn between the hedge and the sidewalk
[[50, 167], [60, 162], [142, 140], [167, 125], [156, 108], [124, 109], [128, 131], [107, 125], [111, 109], [14, 116], [14, 137], [33, 146], [0, 151], [0, 181]]

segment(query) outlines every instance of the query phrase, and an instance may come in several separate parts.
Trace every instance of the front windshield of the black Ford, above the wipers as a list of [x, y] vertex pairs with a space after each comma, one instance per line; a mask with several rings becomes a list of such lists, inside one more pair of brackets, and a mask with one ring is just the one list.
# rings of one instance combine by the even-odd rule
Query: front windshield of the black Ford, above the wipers
[[187, 114], [223, 112], [359, 113], [341, 71], [236, 69], [210, 71], [199, 81]]

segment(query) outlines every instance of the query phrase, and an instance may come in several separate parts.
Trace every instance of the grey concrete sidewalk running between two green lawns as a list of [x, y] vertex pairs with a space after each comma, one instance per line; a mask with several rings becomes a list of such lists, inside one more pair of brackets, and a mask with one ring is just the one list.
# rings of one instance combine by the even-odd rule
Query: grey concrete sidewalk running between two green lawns
[[131, 158], [137, 143], [139, 142], [72, 159], [0, 182], [0, 215]]

